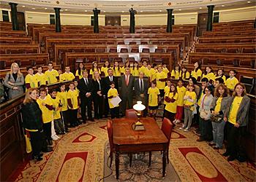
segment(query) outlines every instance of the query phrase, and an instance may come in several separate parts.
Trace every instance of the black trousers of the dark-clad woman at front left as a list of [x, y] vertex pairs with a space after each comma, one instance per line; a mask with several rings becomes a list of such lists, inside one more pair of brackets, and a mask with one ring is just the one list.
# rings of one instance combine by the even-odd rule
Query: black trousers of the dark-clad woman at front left
[[43, 132], [29, 132], [32, 156], [38, 156], [42, 150]]

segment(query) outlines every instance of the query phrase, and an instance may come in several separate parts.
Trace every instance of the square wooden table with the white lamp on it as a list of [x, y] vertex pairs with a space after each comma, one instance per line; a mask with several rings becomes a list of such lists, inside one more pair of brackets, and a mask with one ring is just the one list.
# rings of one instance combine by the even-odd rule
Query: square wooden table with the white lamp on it
[[116, 149], [116, 179], [119, 176], [119, 154], [162, 151], [162, 176], [165, 176], [167, 138], [152, 118], [141, 118], [146, 130], [134, 131], [133, 119], [113, 120], [113, 143]]

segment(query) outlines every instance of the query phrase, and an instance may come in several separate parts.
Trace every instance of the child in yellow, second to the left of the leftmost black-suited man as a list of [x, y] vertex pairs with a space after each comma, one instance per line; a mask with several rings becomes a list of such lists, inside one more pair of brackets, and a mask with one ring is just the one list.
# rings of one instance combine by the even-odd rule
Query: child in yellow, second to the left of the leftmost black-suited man
[[60, 92], [57, 93], [57, 97], [60, 98], [60, 104], [61, 104], [61, 115], [62, 119], [64, 120], [64, 127], [65, 127], [65, 132], [69, 132], [68, 127], [69, 127], [69, 115], [68, 115], [68, 110], [67, 110], [67, 90], [66, 86], [64, 83], [60, 83], [59, 85], [59, 90]]

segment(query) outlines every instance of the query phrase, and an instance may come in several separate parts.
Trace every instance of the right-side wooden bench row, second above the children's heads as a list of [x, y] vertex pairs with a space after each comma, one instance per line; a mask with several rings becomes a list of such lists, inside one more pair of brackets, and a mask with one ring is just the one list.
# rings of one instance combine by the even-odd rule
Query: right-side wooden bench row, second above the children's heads
[[256, 44], [195, 44], [195, 52], [256, 53]]

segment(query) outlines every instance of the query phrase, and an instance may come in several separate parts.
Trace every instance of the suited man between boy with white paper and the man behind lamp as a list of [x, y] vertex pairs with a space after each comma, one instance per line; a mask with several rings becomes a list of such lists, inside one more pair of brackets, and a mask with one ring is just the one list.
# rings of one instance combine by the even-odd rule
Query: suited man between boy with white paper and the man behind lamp
[[127, 107], [132, 108], [132, 93], [134, 87], [134, 76], [129, 72], [129, 68], [125, 68], [125, 73], [120, 77], [121, 87], [121, 115], [124, 116]]

